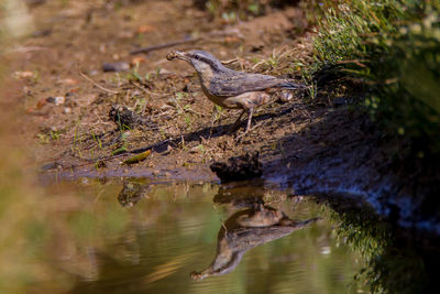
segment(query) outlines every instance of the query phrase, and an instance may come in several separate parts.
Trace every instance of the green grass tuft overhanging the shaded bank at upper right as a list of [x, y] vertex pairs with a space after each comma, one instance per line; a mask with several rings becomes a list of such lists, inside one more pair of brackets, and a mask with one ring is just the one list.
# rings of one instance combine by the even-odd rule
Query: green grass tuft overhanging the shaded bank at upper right
[[[363, 85], [363, 106], [411, 154], [440, 154], [440, 2], [322, 1], [315, 66]], [[309, 7], [310, 9], [310, 7]]]

